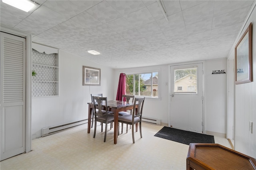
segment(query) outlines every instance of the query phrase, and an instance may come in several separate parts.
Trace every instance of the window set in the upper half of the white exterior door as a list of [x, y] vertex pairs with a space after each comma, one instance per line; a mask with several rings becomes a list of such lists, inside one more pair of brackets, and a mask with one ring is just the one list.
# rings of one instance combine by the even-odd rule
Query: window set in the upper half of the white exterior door
[[197, 93], [197, 67], [175, 69], [174, 78], [174, 92]]

